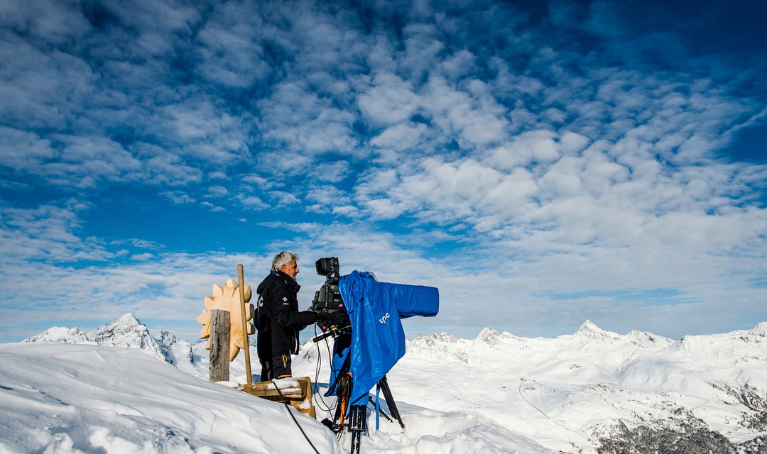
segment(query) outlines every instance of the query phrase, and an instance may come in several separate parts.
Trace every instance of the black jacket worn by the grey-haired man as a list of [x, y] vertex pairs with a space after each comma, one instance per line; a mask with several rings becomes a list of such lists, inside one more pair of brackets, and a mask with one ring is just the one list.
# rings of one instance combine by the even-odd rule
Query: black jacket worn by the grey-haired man
[[[298, 290], [301, 286], [285, 273], [274, 271], [258, 284], [256, 292], [264, 306], [258, 317], [258, 356], [298, 354], [298, 332], [316, 322], [311, 311], [298, 311]], [[262, 358], [267, 359], [267, 358]]]

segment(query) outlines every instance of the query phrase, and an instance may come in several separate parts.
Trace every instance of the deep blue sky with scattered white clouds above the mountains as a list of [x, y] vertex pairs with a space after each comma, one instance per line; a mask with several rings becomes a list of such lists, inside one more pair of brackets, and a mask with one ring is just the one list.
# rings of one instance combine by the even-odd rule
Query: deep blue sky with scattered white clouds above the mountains
[[767, 321], [762, 2], [0, 4], [0, 341], [301, 256], [439, 288], [408, 335]]

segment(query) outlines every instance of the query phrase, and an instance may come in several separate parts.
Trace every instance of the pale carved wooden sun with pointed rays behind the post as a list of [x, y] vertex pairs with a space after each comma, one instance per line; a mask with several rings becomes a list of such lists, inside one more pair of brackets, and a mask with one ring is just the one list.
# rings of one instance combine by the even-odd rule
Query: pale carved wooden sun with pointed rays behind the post
[[[250, 286], [245, 284], [245, 302], [250, 301], [252, 292]], [[242, 309], [239, 300], [239, 285], [235, 279], [228, 279], [223, 288], [213, 284], [213, 296], [205, 297], [205, 310], [197, 317], [197, 322], [202, 325], [199, 338], [208, 339], [205, 348], [210, 350], [210, 311], [212, 309], [224, 309], [229, 312], [229, 361], [237, 358], [237, 354], [245, 344], [242, 341]], [[252, 304], [245, 304], [245, 320], [253, 318], [254, 308]], [[248, 322], [248, 334], [255, 333], [255, 328]]]

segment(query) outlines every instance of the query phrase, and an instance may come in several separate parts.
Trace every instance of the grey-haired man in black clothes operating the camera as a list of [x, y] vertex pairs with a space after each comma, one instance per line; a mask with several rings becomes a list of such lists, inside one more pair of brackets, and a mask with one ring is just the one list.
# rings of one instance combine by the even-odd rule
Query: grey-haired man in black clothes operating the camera
[[298, 332], [316, 322], [331, 322], [326, 313], [298, 311], [298, 256], [289, 250], [272, 260], [272, 272], [258, 285], [258, 361], [261, 381], [291, 377], [291, 354], [298, 354]]

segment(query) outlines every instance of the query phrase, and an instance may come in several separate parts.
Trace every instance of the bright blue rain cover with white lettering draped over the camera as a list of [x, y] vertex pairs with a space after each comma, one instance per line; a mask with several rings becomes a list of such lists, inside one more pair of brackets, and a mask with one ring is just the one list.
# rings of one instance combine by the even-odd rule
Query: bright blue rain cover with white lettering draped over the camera
[[[354, 381], [349, 401], [367, 404], [367, 393], [405, 354], [400, 318], [433, 317], [439, 312], [439, 289], [377, 282], [356, 270], [338, 279], [338, 292], [351, 321], [350, 345], [336, 345], [331, 387], [342, 361], [349, 356]], [[344, 342], [345, 344], [345, 342]], [[331, 393], [334, 394], [331, 388]]]

